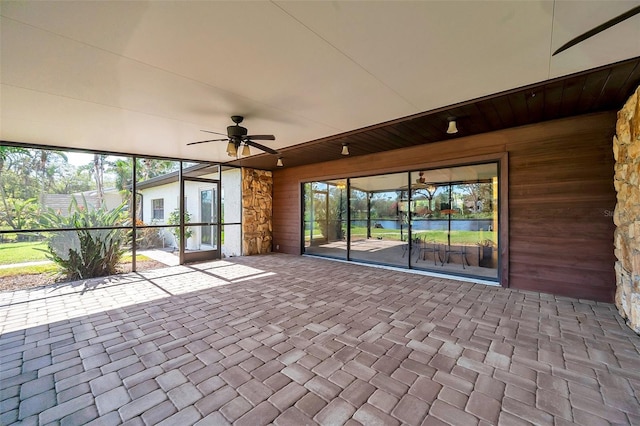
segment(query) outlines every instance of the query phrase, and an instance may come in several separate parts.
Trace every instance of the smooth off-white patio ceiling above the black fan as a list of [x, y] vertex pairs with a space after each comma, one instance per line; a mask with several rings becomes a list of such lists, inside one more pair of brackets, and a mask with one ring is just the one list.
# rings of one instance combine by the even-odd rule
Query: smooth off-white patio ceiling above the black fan
[[228, 161], [186, 144], [238, 114], [278, 149], [640, 56], [636, 15], [552, 57], [638, 5], [3, 0], [0, 137]]

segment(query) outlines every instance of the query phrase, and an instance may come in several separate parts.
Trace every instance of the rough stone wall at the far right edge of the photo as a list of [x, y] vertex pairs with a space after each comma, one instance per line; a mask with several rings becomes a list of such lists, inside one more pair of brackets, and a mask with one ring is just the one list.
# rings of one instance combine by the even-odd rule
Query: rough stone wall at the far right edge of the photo
[[618, 112], [613, 138], [616, 306], [640, 334], [640, 87]]

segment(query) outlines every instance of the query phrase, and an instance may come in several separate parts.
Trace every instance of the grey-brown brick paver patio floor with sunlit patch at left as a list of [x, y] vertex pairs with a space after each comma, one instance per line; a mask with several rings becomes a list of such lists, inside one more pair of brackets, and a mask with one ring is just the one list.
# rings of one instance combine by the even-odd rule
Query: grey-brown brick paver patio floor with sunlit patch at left
[[0, 424], [640, 425], [613, 305], [288, 255], [0, 294]]

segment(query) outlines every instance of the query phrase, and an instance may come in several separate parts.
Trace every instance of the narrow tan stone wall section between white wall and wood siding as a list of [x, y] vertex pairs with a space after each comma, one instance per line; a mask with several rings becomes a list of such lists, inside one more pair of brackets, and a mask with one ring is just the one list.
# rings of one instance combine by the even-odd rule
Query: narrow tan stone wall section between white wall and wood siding
[[273, 175], [242, 169], [242, 254], [269, 253], [273, 241]]

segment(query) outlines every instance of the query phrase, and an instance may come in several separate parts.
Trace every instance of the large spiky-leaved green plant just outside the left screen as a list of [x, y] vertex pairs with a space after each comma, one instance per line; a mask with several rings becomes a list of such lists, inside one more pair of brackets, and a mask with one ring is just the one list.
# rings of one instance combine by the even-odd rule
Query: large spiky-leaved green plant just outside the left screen
[[[68, 215], [49, 208], [42, 214], [41, 224], [60, 229], [47, 239], [47, 257], [55, 262], [69, 279], [102, 277], [117, 273], [124, 254], [127, 232], [124, 229], [84, 229], [126, 225], [126, 204], [113, 210], [105, 207], [79, 206], [74, 198]], [[63, 231], [68, 229], [69, 231]]]

